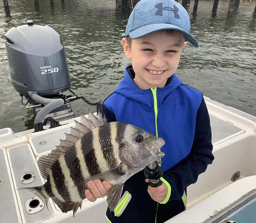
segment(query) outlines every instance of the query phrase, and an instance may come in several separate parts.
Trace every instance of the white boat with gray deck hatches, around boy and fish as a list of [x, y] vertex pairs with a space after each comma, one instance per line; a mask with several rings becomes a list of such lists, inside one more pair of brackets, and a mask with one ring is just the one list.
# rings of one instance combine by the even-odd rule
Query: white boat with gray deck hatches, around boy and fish
[[[212, 126], [215, 159], [188, 187], [187, 210], [168, 223], [256, 222], [256, 117], [205, 97]], [[77, 121], [80, 117], [73, 118]], [[33, 193], [17, 190], [44, 184], [36, 160], [65, 139], [73, 119], [34, 132], [0, 130], [0, 222], [107, 222], [106, 198], [86, 199], [76, 217], [62, 213], [50, 199], [49, 211]], [[242, 219], [242, 220], [241, 220]]]

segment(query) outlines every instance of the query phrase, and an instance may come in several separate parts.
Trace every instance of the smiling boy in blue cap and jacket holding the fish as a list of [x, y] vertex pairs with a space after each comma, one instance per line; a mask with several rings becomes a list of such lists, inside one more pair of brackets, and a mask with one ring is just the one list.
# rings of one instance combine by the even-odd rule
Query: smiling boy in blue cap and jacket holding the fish
[[[128, 179], [123, 193], [132, 198], [115, 212], [107, 210], [111, 223], [162, 223], [182, 212], [187, 187], [214, 159], [203, 95], [175, 75], [187, 41], [199, 47], [189, 31], [188, 13], [174, 0], [141, 0], [129, 17], [122, 44], [132, 65], [103, 102], [102, 114], [108, 122], [130, 123], [163, 138], [164, 174], [158, 187], [149, 186], [143, 171]], [[94, 180], [89, 187], [86, 197], [95, 201], [111, 185]]]

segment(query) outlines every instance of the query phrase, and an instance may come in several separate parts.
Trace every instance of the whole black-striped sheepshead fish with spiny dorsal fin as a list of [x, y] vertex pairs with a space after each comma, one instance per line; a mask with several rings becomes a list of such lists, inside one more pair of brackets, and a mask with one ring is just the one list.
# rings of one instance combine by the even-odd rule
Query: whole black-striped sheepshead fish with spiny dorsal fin
[[164, 156], [159, 151], [164, 140], [131, 124], [107, 123], [105, 117], [90, 111], [88, 119], [81, 115], [81, 123], [75, 122], [66, 139], [60, 139], [60, 145], [37, 162], [47, 180], [44, 185], [21, 189], [35, 193], [46, 206], [52, 198], [62, 212], [73, 211], [75, 216], [86, 198], [87, 182], [106, 180], [113, 185], [107, 192], [108, 207], [113, 211], [124, 182]]

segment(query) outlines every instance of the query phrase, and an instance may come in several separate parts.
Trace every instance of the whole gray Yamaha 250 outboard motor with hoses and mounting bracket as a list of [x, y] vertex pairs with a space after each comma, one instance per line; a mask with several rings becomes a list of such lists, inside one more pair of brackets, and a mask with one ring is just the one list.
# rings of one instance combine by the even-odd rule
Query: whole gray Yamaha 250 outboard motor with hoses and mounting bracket
[[[79, 98], [97, 105], [98, 112], [100, 102], [90, 103], [69, 89], [68, 64], [56, 30], [28, 20], [27, 25], [12, 27], [4, 36], [12, 85], [20, 93], [22, 105], [35, 110], [35, 131], [43, 130], [48, 121], [51, 127], [56, 127], [59, 125], [56, 120], [75, 117], [69, 102]], [[73, 95], [61, 94], [67, 90]], [[23, 96], [26, 104], [23, 104]]]

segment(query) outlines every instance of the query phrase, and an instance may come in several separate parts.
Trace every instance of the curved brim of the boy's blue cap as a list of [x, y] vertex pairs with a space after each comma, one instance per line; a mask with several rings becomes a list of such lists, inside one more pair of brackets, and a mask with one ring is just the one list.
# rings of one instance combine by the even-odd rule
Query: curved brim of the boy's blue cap
[[187, 41], [189, 41], [193, 46], [199, 47], [199, 44], [194, 36], [192, 36], [190, 33], [185, 31], [184, 29], [181, 29], [178, 26], [174, 26], [174, 25], [167, 24], [167, 23], [156, 23], [156, 24], [149, 24], [146, 26], [141, 26], [141, 27], [131, 31], [130, 33], [125, 33], [125, 37], [129, 35], [132, 39], [139, 39], [139, 38], [146, 36], [150, 33], [154, 33], [156, 31], [165, 30], [165, 29], [174, 29], [174, 30], [178, 30], [178, 31], [184, 33]]

